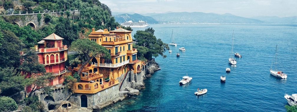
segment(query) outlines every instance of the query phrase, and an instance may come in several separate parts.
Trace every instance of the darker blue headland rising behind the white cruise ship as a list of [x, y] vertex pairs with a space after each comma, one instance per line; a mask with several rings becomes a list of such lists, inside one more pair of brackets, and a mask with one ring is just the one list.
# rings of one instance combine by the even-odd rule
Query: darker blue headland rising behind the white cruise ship
[[118, 23], [123, 23], [129, 20], [132, 20], [133, 22], [138, 22], [139, 20], [143, 20], [146, 21], [146, 23], [149, 24], [157, 24], [159, 23], [157, 20], [155, 20], [154, 18], [151, 18], [149, 16], [143, 16], [140, 14], [120, 14], [120, 15], [114, 15], [114, 18], [116, 19], [116, 22]]

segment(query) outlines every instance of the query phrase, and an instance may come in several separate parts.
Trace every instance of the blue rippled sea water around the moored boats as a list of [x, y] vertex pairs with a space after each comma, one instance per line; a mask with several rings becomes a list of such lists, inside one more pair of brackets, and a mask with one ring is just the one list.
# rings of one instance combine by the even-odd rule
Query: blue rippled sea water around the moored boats
[[[101, 111], [256, 111], [285, 112], [284, 94], [297, 93], [297, 26], [296, 25], [151, 25], [155, 36], [169, 43], [173, 29], [177, 47], [156, 58], [161, 70], [146, 79], [140, 95], [126, 98]], [[133, 34], [137, 30], [133, 28]], [[236, 66], [228, 63], [234, 29], [233, 52]], [[287, 79], [269, 74], [278, 45], [278, 68]], [[179, 47], [186, 51], [176, 57]], [[232, 54], [234, 55], [234, 53]], [[226, 67], [231, 68], [226, 73]], [[192, 82], [179, 86], [188, 73]], [[220, 82], [226, 75], [226, 82]], [[208, 92], [194, 95], [197, 88]]]

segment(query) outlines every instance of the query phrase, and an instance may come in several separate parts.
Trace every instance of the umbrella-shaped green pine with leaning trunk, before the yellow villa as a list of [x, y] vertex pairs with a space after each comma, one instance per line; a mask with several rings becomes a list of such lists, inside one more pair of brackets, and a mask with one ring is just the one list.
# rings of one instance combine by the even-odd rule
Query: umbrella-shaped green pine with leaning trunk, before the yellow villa
[[78, 69], [78, 74], [81, 73], [83, 67], [85, 67], [95, 56], [100, 55], [105, 59], [110, 59], [110, 54], [105, 47], [89, 39], [78, 39], [72, 42], [71, 50], [78, 53], [78, 57], [70, 61], [72, 64], [81, 64]]

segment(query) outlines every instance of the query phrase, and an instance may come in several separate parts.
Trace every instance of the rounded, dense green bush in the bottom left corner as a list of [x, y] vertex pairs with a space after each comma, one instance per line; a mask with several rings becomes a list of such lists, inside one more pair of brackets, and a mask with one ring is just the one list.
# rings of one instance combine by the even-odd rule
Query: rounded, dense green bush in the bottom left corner
[[0, 97], [0, 111], [15, 111], [18, 109], [18, 105], [10, 97]]

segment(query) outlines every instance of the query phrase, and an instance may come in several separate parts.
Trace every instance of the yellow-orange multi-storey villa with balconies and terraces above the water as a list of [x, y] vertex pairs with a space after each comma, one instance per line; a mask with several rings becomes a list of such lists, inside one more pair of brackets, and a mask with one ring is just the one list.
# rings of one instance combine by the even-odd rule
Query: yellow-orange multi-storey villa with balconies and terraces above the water
[[[111, 59], [100, 56], [91, 59], [91, 64], [86, 65], [80, 74], [81, 81], [75, 84], [75, 93], [94, 94], [120, 84], [118, 77], [127, 75], [128, 71], [142, 71], [145, 63], [137, 59], [137, 49], [132, 47], [131, 32], [119, 27], [113, 31], [92, 29], [89, 40], [108, 49]], [[73, 70], [78, 71], [79, 67]]]

